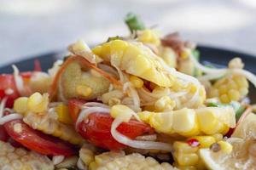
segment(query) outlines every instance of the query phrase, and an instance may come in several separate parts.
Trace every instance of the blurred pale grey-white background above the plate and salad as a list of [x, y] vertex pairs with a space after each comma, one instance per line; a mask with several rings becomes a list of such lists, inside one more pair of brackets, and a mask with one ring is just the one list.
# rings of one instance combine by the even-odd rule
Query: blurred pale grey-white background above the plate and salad
[[255, 0], [0, 0], [0, 66], [127, 35], [128, 12], [163, 34], [256, 56]]

